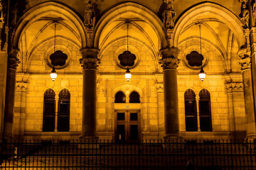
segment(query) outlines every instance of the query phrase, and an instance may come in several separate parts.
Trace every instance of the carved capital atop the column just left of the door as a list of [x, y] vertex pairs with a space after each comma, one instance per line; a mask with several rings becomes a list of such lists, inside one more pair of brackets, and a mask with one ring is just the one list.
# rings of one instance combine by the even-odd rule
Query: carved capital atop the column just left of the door
[[82, 53], [80, 64], [82, 64], [83, 69], [97, 69], [98, 64], [100, 64], [100, 59], [97, 58], [100, 50], [97, 48], [82, 48], [80, 52]]

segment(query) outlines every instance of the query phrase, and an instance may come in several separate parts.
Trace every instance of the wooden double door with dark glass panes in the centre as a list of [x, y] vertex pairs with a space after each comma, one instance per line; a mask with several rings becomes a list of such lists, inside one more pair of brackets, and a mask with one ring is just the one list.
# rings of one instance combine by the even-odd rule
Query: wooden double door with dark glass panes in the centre
[[139, 142], [139, 111], [116, 111], [115, 120], [116, 142]]

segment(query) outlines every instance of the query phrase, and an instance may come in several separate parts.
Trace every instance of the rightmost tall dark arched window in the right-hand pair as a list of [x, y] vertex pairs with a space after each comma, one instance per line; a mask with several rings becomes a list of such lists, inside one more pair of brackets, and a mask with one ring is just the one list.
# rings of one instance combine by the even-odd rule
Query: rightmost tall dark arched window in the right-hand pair
[[212, 131], [212, 121], [210, 113], [210, 93], [202, 89], [199, 93], [199, 115], [201, 131]]

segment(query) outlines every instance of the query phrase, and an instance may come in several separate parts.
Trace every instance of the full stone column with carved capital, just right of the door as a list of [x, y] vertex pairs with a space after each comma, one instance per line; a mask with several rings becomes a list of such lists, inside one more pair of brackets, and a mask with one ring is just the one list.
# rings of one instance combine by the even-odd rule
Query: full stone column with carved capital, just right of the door
[[164, 73], [164, 125], [166, 137], [178, 137], [178, 86], [177, 70], [178, 48], [166, 47], [160, 50], [162, 58], [159, 63], [162, 64]]

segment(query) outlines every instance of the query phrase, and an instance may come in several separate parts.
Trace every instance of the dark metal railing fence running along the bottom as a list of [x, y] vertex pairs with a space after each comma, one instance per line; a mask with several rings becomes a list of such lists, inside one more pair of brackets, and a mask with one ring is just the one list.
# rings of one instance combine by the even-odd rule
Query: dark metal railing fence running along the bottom
[[256, 169], [255, 143], [107, 140], [10, 141], [0, 169]]

